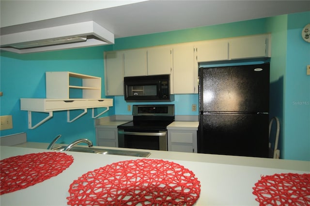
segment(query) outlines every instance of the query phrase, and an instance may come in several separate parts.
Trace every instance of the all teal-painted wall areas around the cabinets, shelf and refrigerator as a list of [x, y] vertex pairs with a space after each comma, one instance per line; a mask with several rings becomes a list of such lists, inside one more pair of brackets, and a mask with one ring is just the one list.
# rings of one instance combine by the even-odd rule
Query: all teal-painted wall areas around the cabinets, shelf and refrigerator
[[[300, 40], [301, 28], [307, 22], [309, 23], [309, 14], [308, 12], [283, 15], [230, 24], [120, 38], [116, 39], [113, 45], [92, 48], [23, 55], [1, 52], [0, 90], [3, 92], [3, 96], [0, 97], [0, 114], [12, 115], [14, 128], [1, 131], [0, 135], [27, 132], [28, 141], [50, 142], [54, 136], [61, 133], [63, 135], [61, 140], [63, 143], [70, 143], [77, 138], [83, 137], [87, 137], [95, 142], [94, 120], [91, 118], [90, 109], [86, 115], [72, 123], [66, 122], [66, 111], [54, 112], [54, 117], [46, 123], [34, 130], [28, 129], [27, 112], [20, 110], [19, 99], [45, 98], [45, 72], [47, 71], [70, 71], [99, 76], [104, 82], [104, 51], [271, 32], [271, 100], [274, 101], [271, 103], [270, 113], [273, 116], [279, 116], [282, 121], [281, 124], [284, 124], [285, 129], [281, 131], [281, 135], [283, 135], [283, 140], [281, 141], [281, 147], [283, 147], [281, 149], [283, 151], [281, 152], [284, 154], [282, 157], [285, 159], [310, 160], [308, 147], [310, 146], [309, 115], [305, 115], [299, 120], [299, 118], [296, 119], [297, 114], [295, 114], [295, 112], [308, 112], [309, 114], [309, 105], [293, 105], [292, 103], [294, 101], [309, 101], [309, 76], [305, 76], [305, 65], [310, 64], [310, 58], [308, 58], [310, 44]], [[295, 21], [298, 21], [298, 24], [293, 28]], [[296, 33], [299, 34], [296, 35]], [[291, 40], [292, 38], [294, 42]], [[300, 46], [302, 46], [305, 52], [300, 52]], [[290, 49], [290, 52], [286, 52], [286, 48]], [[294, 58], [291, 58], [291, 56]], [[293, 68], [297, 68], [298, 71], [302, 70], [304, 74], [302, 72], [296, 72]], [[295, 82], [299, 82], [297, 84], [298, 92], [296, 92], [297, 86], [292, 88]], [[290, 92], [290, 94], [287, 94], [287, 92]], [[294, 93], [300, 95], [296, 96], [297, 94]], [[102, 97], [105, 98], [104, 84], [102, 84]], [[114, 106], [110, 107], [109, 112], [101, 117], [113, 114], [131, 114], [127, 111], [127, 104], [132, 103], [126, 103], [123, 96], [112, 98], [114, 98]], [[198, 111], [191, 111], [191, 104], [198, 104], [197, 94], [175, 95], [175, 101], [171, 103], [175, 104], [176, 115], [198, 115]], [[75, 114], [75, 111], [72, 114]], [[40, 121], [42, 116], [42, 114], [33, 114], [33, 121]], [[297, 116], [299, 117], [299, 115]], [[286, 122], [285, 119], [290, 119], [294, 123]], [[293, 142], [293, 147], [290, 147], [290, 144]], [[296, 149], [296, 147], [299, 147], [299, 149]]]

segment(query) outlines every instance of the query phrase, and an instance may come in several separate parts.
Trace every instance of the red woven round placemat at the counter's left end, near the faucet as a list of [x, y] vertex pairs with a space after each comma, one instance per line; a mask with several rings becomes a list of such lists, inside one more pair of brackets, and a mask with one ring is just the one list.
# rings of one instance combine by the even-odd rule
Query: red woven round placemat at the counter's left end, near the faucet
[[62, 152], [42, 152], [10, 157], [0, 162], [0, 194], [43, 182], [68, 168], [73, 157]]

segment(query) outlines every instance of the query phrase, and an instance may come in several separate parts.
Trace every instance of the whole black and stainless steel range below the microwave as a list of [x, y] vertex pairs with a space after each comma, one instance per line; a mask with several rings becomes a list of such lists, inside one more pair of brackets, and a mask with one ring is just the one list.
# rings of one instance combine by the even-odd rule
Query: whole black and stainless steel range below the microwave
[[167, 151], [167, 126], [173, 121], [173, 104], [133, 105], [133, 121], [118, 126], [119, 147]]

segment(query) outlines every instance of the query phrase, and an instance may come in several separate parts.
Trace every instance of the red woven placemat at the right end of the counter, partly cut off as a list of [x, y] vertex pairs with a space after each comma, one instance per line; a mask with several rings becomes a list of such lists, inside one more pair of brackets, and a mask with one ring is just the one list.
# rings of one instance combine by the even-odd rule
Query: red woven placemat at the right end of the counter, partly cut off
[[260, 206], [310, 206], [310, 174], [263, 176], [253, 190]]

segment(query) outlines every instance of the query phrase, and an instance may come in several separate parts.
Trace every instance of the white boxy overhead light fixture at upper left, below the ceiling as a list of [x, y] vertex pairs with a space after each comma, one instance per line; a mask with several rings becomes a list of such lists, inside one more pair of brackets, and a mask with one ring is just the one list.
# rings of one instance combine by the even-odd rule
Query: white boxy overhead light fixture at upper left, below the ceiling
[[114, 34], [94, 21], [1, 35], [2, 50], [19, 54], [114, 44]]

